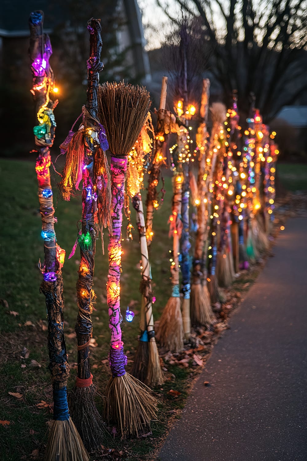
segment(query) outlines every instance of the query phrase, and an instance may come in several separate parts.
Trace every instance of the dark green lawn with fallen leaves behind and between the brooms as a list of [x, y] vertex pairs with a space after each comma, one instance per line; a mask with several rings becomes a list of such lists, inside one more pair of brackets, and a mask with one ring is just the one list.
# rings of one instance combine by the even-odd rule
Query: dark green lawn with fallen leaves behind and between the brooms
[[[52, 418], [52, 388], [46, 348], [46, 306], [45, 297], [40, 294], [41, 273], [38, 261], [43, 260], [43, 241], [40, 236], [41, 216], [38, 212], [37, 181], [35, 159], [33, 162], [0, 160], [1, 174], [1, 240], [0, 240], [0, 372], [2, 378], [0, 391], [0, 460], [20, 461], [41, 459], [46, 445], [49, 421]], [[307, 165], [278, 165], [279, 177], [290, 190], [307, 189]], [[55, 198], [55, 173], [53, 191]], [[298, 180], [297, 180], [298, 179]], [[171, 241], [168, 238], [168, 215], [170, 213], [171, 179], [165, 178], [166, 200], [155, 213], [155, 237], [152, 243], [152, 275], [156, 302], [154, 318], [158, 319], [170, 295], [168, 251]], [[75, 243], [77, 221], [81, 218], [81, 200], [76, 197], [70, 202], [59, 201], [55, 215], [58, 217], [56, 233], [58, 243], [66, 249], [67, 255]], [[131, 213], [135, 219], [134, 210]], [[124, 221], [123, 230], [127, 224]], [[132, 221], [132, 224], [133, 221]], [[122, 314], [128, 305], [133, 306], [135, 317], [132, 323], [123, 322], [123, 341], [128, 357], [127, 371], [132, 365], [137, 335], [139, 334], [140, 311], [140, 269], [139, 239], [133, 233], [133, 242], [122, 242], [121, 306]], [[125, 237], [125, 235], [123, 235]], [[104, 239], [105, 249], [108, 238]], [[65, 334], [69, 353], [71, 389], [75, 383], [76, 341], [74, 325], [77, 315], [75, 284], [79, 266], [79, 251], [70, 260], [66, 259], [63, 268], [65, 298]], [[98, 394], [103, 396], [105, 385], [110, 377], [107, 361], [110, 331], [106, 304], [106, 276], [108, 271], [107, 254], [102, 255], [100, 240], [96, 246], [94, 290], [97, 295], [93, 312], [93, 337], [97, 347], [91, 350], [93, 382]], [[259, 269], [258, 269], [259, 272]], [[244, 279], [236, 279], [233, 289], [248, 290], [258, 273], [248, 273]], [[112, 439], [105, 446], [125, 448], [128, 460], [153, 460], [156, 444], [165, 434], [169, 420], [179, 417], [183, 408], [193, 376], [197, 370], [168, 365], [167, 380], [161, 389], [156, 390], [160, 400], [159, 421], [152, 424], [152, 437], [121, 443]], [[169, 390], [178, 390], [176, 398]], [[15, 393], [15, 395], [9, 394]], [[20, 397], [18, 397], [20, 395]], [[102, 408], [103, 399], [97, 397], [97, 407]], [[43, 402], [42, 402], [43, 401]], [[45, 403], [44, 403], [45, 402]], [[3, 424], [8, 421], [9, 424]], [[159, 438], [160, 437], [160, 438]], [[31, 456], [32, 454], [32, 456]], [[92, 458], [94, 460], [95, 458]]]

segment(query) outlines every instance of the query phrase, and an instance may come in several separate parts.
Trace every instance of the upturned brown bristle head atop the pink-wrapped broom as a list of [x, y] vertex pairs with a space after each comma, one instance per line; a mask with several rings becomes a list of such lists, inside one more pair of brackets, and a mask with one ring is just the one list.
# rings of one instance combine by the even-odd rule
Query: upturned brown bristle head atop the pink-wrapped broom
[[98, 116], [113, 155], [127, 155], [147, 118], [151, 100], [145, 87], [106, 82], [98, 88]]

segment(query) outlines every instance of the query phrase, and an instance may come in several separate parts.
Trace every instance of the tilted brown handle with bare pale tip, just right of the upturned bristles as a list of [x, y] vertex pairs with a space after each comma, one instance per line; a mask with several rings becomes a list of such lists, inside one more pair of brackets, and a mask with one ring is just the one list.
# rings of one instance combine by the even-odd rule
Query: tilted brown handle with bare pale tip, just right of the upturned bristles
[[[165, 110], [166, 107], [166, 97], [167, 97], [167, 90], [168, 90], [168, 77], [162, 77], [162, 87], [161, 87], [161, 96], [160, 96], [160, 107], [159, 111]], [[159, 113], [158, 113], [159, 117]], [[156, 149], [154, 154], [154, 161], [152, 162], [151, 167], [151, 174], [148, 180], [148, 192], [147, 192], [147, 210], [146, 210], [146, 238], [147, 238], [147, 245], [150, 246], [152, 240], [152, 220], [153, 220], [153, 213], [154, 213], [154, 200], [156, 200], [157, 192], [156, 187], [160, 179], [160, 170], [163, 160], [160, 159], [162, 155], [162, 159], [164, 158], [162, 148], [163, 142], [156, 140]]]

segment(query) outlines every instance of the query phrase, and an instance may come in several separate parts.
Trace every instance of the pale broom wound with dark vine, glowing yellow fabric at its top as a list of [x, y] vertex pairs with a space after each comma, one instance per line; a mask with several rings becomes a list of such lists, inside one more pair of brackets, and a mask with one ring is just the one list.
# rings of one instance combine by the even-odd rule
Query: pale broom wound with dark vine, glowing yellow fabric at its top
[[[132, 198], [133, 207], [137, 213], [137, 226], [141, 249], [140, 292], [142, 294], [141, 335], [134, 357], [132, 375], [149, 387], [163, 384], [163, 375], [160, 366], [159, 353], [156, 345], [154, 320], [152, 313], [153, 293], [151, 288], [151, 270], [148, 246], [146, 241], [146, 227], [140, 186], [143, 184], [144, 155], [151, 152], [152, 140], [148, 136], [149, 125], [143, 127], [135, 147], [129, 154], [127, 172], [127, 193]], [[153, 128], [151, 129], [153, 132]]]

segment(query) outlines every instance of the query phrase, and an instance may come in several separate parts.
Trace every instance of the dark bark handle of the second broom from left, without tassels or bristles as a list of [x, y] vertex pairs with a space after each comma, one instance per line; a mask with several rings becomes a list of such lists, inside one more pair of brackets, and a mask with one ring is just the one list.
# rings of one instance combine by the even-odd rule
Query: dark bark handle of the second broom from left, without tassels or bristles
[[[102, 49], [101, 25], [100, 19], [90, 19], [87, 29], [90, 37], [90, 52], [87, 60], [87, 112], [84, 118], [84, 128], [93, 130], [97, 126], [98, 114], [98, 83], [99, 71], [102, 70], [103, 64], [100, 62]], [[90, 141], [95, 137], [87, 135]], [[90, 142], [93, 144], [93, 142]], [[96, 231], [94, 227], [94, 216], [97, 211], [97, 201], [94, 197], [95, 178], [93, 174], [93, 161], [95, 157], [95, 147], [87, 150], [91, 151], [90, 155], [85, 156], [85, 169], [83, 170], [83, 189], [82, 189], [82, 230], [80, 242], [80, 266], [78, 271], [77, 282], [77, 305], [78, 316], [75, 325], [78, 344], [78, 378], [88, 379], [90, 383], [91, 365], [90, 365], [90, 340], [93, 337], [93, 322], [91, 313], [93, 312], [93, 275], [94, 275], [94, 257], [96, 251]], [[78, 384], [78, 379], [77, 379]], [[91, 383], [90, 383], [91, 384]], [[88, 384], [88, 385], [90, 385]]]

